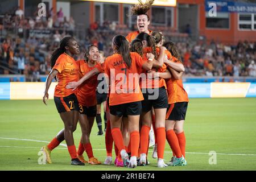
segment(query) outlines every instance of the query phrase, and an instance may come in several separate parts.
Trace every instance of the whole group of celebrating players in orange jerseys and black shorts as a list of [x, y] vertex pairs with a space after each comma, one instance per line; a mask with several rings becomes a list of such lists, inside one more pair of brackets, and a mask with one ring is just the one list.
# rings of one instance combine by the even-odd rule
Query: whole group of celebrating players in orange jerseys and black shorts
[[[148, 30], [150, 18], [146, 13], [153, 2], [139, 1], [131, 7], [133, 15], [137, 15], [138, 31], [126, 37], [114, 36], [114, 53], [105, 61], [99, 61], [102, 56], [96, 46], [86, 48], [84, 60], [75, 61], [73, 56], [79, 55], [80, 47], [72, 37], [63, 38], [60, 47], [52, 53], [52, 71], [46, 80], [43, 102], [46, 104], [49, 86], [55, 78], [54, 101], [64, 129], [42, 148], [48, 163], [52, 163], [51, 151], [65, 140], [72, 165], [101, 164], [93, 155], [90, 133], [94, 118], [100, 115], [97, 97], [102, 97], [102, 101], [106, 100], [104, 164], [112, 164], [114, 143], [115, 166], [148, 165], [152, 126], [155, 135], [153, 158], [158, 159], [157, 166], [187, 165], [183, 125], [188, 95], [181, 79], [184, 66], [175, 44], [164, 40], [161, 32]], [[82, 136], [76, 150], [73, 132], [78, 122]], [[168, 164], [163, 160], [166, 139], [173, 153]], [[84, 159], [84, 151], [88, 161]]]

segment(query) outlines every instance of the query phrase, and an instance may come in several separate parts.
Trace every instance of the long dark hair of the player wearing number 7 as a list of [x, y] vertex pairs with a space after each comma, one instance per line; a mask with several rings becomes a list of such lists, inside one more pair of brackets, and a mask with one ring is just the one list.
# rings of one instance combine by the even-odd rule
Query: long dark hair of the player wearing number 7
[[123, 61], [128, 68], [131, 67], [131, 55], [129, 51], [129, 42], [122, 35], [114, 36], [112, 40], [113, 44], [117, 47], [117, 51], [122, 55]]

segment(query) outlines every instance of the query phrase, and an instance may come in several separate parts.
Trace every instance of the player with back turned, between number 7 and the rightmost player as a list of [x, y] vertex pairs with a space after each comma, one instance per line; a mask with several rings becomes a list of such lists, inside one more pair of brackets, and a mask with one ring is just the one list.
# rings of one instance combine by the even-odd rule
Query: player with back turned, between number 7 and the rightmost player
[[[144, 42], [144, 53], [151, 52], [158, 58], [158, 68], [152, 69], [153, 73], [158, 72], [165, 75], [165, 78], [170, 78], [170, 72], [167, 71], [167, 67], [163, 64], [165, 47], [159, 48], [162, 44], [162, 34], [158, 32], [152, 32], [149, 38], [143, 39], [146, 34], [139, 34], [137, 38]], [[147, 47], [148, 45], [150, 47]], [[160, 68], [159, 68], [160, 67]], [[155, 75], [155, 74], [154, 74]], [[162, 75], [162, 77], [164, 77]], [[156, 78], [157, 79], [157, 78]], [[143, 91], [144, 100], [142, 101], [143, 112], [142, 112], [142, 128], [141, 128], [141, 156], [139, 163], [145, 165], [148, 150], [148, 134], [150, 132], [152, 118], [151, 108], [154, 107], [155, 111], [155, 128], [156, 128], [156, 141], [158, 143], [158, 167], [167, 167], [163, 162], [164, 146], [166, 140], [165, 133], [165, 115], [168, 107], [168, 97], [166, 92], [166, 82], [163, 78], [159, 77], [156, 80], [147, 77], [146, 80], [142, 80], [141, 88]]]

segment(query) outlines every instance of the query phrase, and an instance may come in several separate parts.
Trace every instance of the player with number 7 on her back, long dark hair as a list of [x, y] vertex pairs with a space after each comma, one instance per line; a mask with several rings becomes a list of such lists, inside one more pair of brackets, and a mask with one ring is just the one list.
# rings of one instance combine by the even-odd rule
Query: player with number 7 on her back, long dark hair
[[[106, 77], [110, 79], [110, 122], [112, 137], [120, 151], [124, 166], [137, 166], [139, 148], [139, 115], [143, 95], [139, 87], [138, 68], [150, 70], [154, 56], [150, 54], [149, 61], [143, 60], [135, 52], [129, 52], [129, 42], [122, 35], [114, 36], [112, 40], [114, 55], [105, 60]], [[108, 79], [107, 79], [108, 80]], [[120, 130], [122, 116], [127, 115], [130, 130], [131, 158], [125, 150]]]

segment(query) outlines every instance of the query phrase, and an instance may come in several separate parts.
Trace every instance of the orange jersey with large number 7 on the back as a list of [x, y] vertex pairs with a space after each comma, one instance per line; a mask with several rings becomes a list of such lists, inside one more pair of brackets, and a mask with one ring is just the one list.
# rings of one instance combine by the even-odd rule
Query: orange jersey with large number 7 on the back
[[117, 53], [105, 60], [105, 73], [110, 78], [110, 106], [144, 100], [139, 87], [138, 68], [146, 61], [136, 52], [130, 55], [130, 68], [127, 68], [122, 56]]

